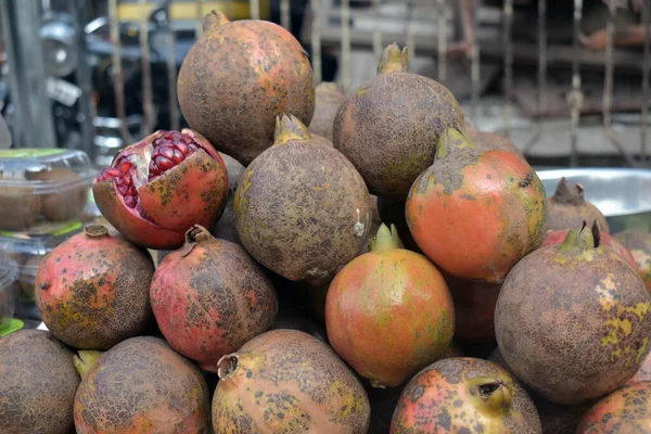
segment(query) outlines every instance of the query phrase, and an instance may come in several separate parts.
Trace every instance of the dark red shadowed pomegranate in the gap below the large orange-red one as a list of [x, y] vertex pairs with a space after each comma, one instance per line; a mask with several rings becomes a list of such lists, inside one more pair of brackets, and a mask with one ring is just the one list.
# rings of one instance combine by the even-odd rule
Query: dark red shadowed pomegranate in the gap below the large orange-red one
[[455, 301], [455, 339], [495, 343], [495, 305], [501, 285], [452, 276], [446, 276], [445, 280]]

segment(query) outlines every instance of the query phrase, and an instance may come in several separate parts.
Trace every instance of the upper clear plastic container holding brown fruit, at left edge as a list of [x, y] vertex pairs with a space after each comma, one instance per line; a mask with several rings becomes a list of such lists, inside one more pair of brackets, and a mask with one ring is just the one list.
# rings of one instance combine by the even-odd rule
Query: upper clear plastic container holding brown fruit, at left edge
[[78, 219], [97, 174], [82, 151], [0, 150], [0, 231]]

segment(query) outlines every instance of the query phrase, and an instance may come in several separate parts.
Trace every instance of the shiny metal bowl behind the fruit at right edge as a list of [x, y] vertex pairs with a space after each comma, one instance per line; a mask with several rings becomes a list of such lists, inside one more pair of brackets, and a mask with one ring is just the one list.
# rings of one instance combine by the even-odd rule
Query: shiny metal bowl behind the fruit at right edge
[[537, 170], [551, 196], [562, 177], [585, 188], [585, 196], [607, 217], [612, 233], [626, 229], [651, 232], [651, 170], [577, 168]]

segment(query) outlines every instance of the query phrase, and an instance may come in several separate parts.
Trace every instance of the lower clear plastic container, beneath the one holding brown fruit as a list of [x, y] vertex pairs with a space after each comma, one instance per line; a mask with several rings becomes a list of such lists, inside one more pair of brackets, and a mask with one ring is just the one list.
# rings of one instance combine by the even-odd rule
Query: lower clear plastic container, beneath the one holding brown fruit
[[17, 318], [40, 319], [34, 296], [38, 266], [46, 254], [79, 233], [82, 228], [81, 221], [41, 221], [25, 231], [0, 231], [0, 261], [13, 261], [17, 268], [17, 276], [12, 284]]

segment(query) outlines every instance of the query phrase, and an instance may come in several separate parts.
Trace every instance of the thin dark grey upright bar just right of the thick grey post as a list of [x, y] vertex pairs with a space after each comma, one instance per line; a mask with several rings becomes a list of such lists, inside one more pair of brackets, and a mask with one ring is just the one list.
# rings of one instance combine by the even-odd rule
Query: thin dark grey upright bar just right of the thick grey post
[[80, 114], [80, 129], [81, 129], [81, 149], [88, 154], [91, 161], [94, 161], [97, 148], [93, 145], [94, 138], [94, 126], [92, 125], [92, 113], [91, 105], [94, 104], [92, 98], [92, 79], [90, 64], [88, 63], [88, 47], [86, 46], [86, 33], [84, 31], [84, 25], [87, 21], [87, 1], [75, 0], [73, 7], [73, 14], [75, 21], [75, 46], [77, 49], [77, 71], [75, 73], [77, 79], [77, 86], [81, 89], [81, 97], [79, 97], [79, 114]]

